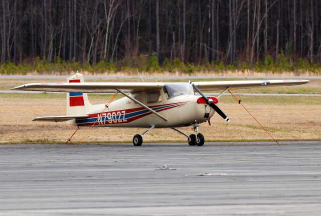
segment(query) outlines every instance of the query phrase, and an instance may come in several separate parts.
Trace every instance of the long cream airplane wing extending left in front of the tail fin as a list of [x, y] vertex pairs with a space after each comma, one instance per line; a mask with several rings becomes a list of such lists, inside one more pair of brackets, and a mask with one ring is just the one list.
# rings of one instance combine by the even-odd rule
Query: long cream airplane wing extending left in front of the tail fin
[[12, 88], [13, 90], [60, 91], [83, 93], [124, 92], [154, 90], [163, 88], [162, 82], [43, 82], [29, 83]]

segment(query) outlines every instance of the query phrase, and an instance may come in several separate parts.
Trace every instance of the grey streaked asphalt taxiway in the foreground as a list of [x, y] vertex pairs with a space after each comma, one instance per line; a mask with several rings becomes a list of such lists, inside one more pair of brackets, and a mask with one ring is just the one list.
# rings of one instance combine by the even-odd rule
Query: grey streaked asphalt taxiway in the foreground
[[0, 152], [0, 215], [321, 212], [320, 141], [0, 145]]

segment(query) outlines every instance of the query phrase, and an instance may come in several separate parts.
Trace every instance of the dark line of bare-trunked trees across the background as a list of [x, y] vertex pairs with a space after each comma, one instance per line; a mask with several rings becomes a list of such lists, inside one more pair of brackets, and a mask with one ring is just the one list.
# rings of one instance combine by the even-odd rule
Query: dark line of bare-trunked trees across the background
[[2, 0], [1, 62], [321, 62], [319, 0]]

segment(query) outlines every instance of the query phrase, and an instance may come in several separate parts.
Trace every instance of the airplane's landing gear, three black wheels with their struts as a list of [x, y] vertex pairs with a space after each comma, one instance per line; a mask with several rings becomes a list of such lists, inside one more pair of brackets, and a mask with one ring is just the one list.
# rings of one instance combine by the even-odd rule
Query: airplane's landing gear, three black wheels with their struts
[[[200, 133], [199, 130], [199, 124], [197, 123], [197, 121], [195, 121], [195, 123], [191, 123], [191, 126], [193, 126], [194, 131], [197, 132], [197, 134], [191, 134], [191, 135], [187, 135], [186, 133], [184, 133], [183, 131], [177, 129], [176, 127], [171, 127], [171, 129], [174, 129], [175, 131], [185, 135], [188, 138], [188, 142], [189, 145], [197, 145], [197, 146], [202, 146], [204, 145], [205, 139], [204, 136]], [[136, 134], [134, 135], [134, 137], [132, 138], [132, 143], [135, 146], [140, 146], [142, 144], [142, 136], [145, 135], [148, 131], [150, 131], [152, 128], [154, 128], [155, 126], [152, 125], [149, 129], [147, 129], [143, 134]]]

